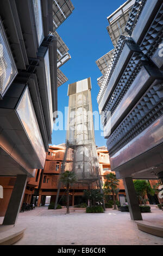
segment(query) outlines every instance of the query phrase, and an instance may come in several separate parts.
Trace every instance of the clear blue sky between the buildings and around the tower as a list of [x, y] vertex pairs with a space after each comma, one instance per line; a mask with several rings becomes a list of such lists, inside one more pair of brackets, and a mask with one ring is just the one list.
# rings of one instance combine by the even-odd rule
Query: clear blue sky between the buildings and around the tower
[[[97, 78], [102, 74], [96, 60], [112, 50], [113, 45], [106, 27], [108, 17], [125, 0], [72, 0], [73, 13], [62, 23], [57, 32], [70, 49], [71, 60], [68, 60], [60, 69], [67, 76], [68, 81], [58, 88], [58, 110], [64, 113], [68, 106], [67, 88], [69, 83], [91, 77], [92, 108], [98, 111], [97, 94], [99, 86]], [[52, 144], [64, 143], [66, 131], [53, 131]], [[106, 144], [101, 131], [95, 131], [96, 145]]]

